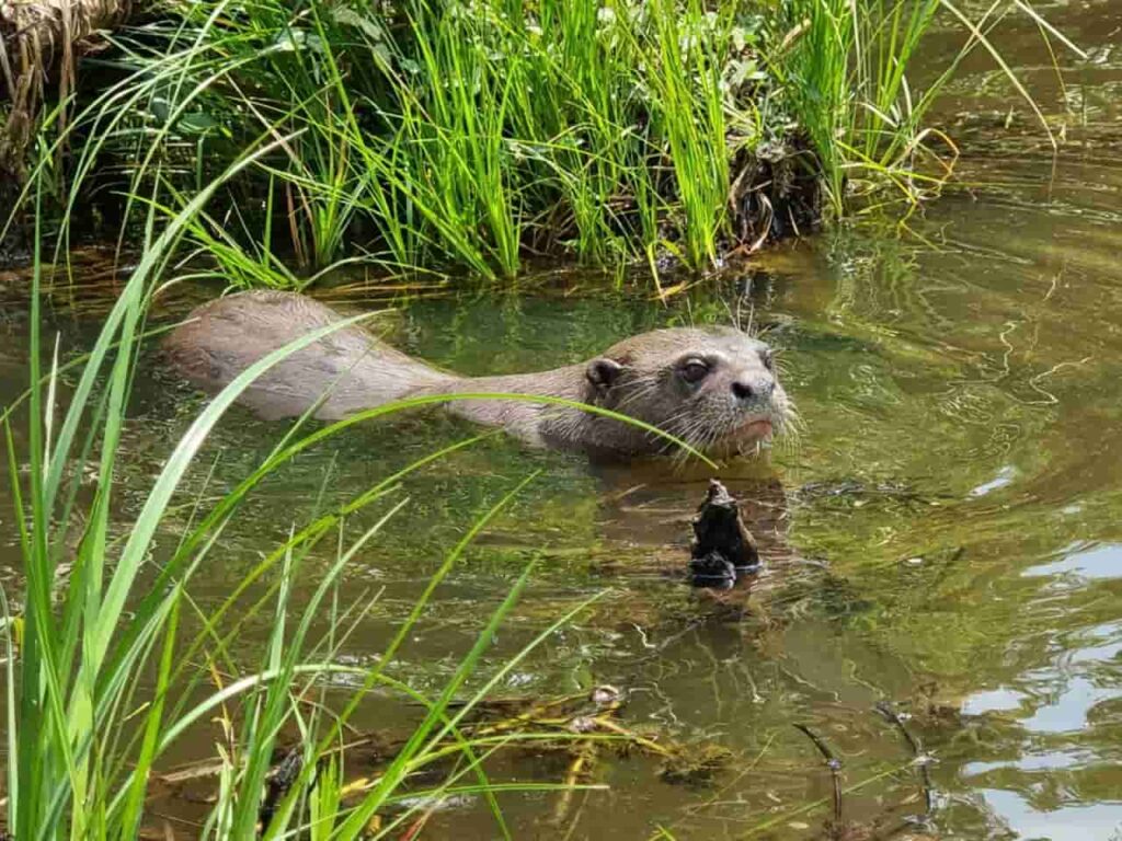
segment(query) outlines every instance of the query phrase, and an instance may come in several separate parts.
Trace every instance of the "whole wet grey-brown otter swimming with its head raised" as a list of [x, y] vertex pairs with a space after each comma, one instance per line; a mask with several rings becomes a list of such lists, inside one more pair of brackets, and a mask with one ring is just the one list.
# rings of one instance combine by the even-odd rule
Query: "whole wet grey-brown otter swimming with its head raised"
[[[296, 293], [238, 293], [196, 308], [164, 349], [188, 381], [214, 392], [267, 353], [340, 318]], [[315, 417], [337, 420], [401, 398], [472, 392], [589, 404], [719, 454], [770, 440], [793, 414], [767, 344], [735, 327], [717, 326], [655, 330], [587, 362], [548, 371], [461, 377], [348, 325], [273, 366], [239, 401], [265, 419], [300, 416], [315, 407]], [[673, 449], [646, 429], [571, 406], [466, 398], [447, 407], [531, 444], [589, 455], [628, 458]]]

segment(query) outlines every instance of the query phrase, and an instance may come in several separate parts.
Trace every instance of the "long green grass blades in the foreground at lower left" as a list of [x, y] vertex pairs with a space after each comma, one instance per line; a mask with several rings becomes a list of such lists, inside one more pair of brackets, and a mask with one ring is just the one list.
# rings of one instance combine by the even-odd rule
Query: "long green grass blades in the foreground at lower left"
[[[472, 739], [460, 728], [465, 717], [506, 674], [552, 632], [543, 631], [482, 682], [454, 710], [466, 678], [476, 672], [495, 630], [525, 585], [518, 580], [453, 677], [435, 697], [395, 680], [393, 663], [435, 588], [472, 539], [523, 487], [491, 507], [448, 554], [444, 563], [398, 626], [381, 656], [367, 668], [338, 657], [367, 604], [340, 603], [339, 576], [393, 517], [404, 516], [399, 482], [410, 472], [469, 445], [475, 438], [432, 453], [385, 478], [347, 503], [321, 510], [307, 525], [258, 563], [218, 606], [200, 606], [192, 584], [221, 563], [221, 536], [257, 484], [296, 453], [349, 424], [305, 433], [294, 426], [266, 460], [217, 500], [192, 503], [184, 525], [181, 486], [201, 446], [238, 395], [269, 366], [316, 338], [353, 320], [295, 340], [241, 373], [183, 433], [142, 497], [139, 511], [122, 530], [114, 501], [121, 495], [120, 453], [128, 422], [136, 364], [147, 334], [146, 314], [166, 276], [177, 244], [199, 223], [204, 205], [223, 183], [254, 166], [278, 138], [237, 161], [205, 185], [166, 224], [157, 196], [146, 203], [148, 241], [139, 262], [81, 366], [70, 367], [71, 399], [58, 400], [62, 368], [57, 353], [45, 358], [40, 309], [42, 255], [36, 253], [30, 302], [30, 388], [26, 400], [3, 410], [7, 473], [24, 560], [22, 591], [3, 593], [7, 696], [7, 775], [4, 817], [20, 839], [135, 838], [145, 823], [154, 775], [169, 750], [190, 739], [213, 717], [224, 722], [218, 747], [217, 802], [203, 829], [205, 838], [251, 838], [261, 814], [265, 780], [282, 739], [303, 760], [287, 794], [273, 804], [266, 838], [309, 833], [313, 838], [368, 837], [369, 819], [396, 803], [401, 788], [419, 769], [450, 768], [424, 795], [471, 792], [493, 807], [499, 834], [508, 833], [493, 792], [542, 789], [546, 785], [491, 785], [484, 763], [495, 750], [526, 733]], [[40, 194], [37, 194], [40, 195]], [[38, 231], [42, 234], [42, 231]], [[36, 240], [42, 241], [40, 239]], [[381, 414], [406, 408], [381, 409]], [[26, 417], [21, 417], [26, 415]], [[27, 425], [17, 443], [13, 424]], [[80, 491], [93, 471], [96, 492], [89, 502]], [[527, 480], [528, 481], [528, 480]], [[139, 490], [130, 487], [130, 493]], [[376, 524], [346, 539], [348, 518], [360, 509], [380, 511]], [[81, 527], [75, 532], [77, 517]], [[171, 520], [171, 521], [169, 521]], [[174, 524], [174, 525], [173, 525]], [[312, 553], [335, 542], [333, 561], [311, 598], [297, 611], [293, 592]], [[269, 606], [272, 604], [272, 612]], [[579, 612], [578, 606], [559, 622]], [[245, 672], [233, 656], [247, 621], [270, 617], [270, 634], [256, 671]], [[190, 620], [190, 621], [188, 621]], [[327, 627], [315, 636], [314, 629]], [[194, 628], [185, 631], [185, 628]], [[209, 685], [212, 677], [230, 677]], [[346, 674], [352, 692], [342, 709], [328, 703], [324, 681]], [[373, 690], [389, 691], [424, 709], [422, 723], [376, 784], [342, 803], [339, 740], [347, 720]], [[319, 695], [310, 708], [305, 699]], [[334, 709], [332, 713], [327, 710]], [[450, 758], [459, 758], [449, 765]], [[324, 774], [316, 769], [327, 767]], [[438, 778], [440, 779], [440, 778]], [[416, 791], [412, 794], [417, 795]], [[420, 806], [402, 807], [376, 837], [390, 833]], [[314, 821], [314, 824], [309, 823]]]

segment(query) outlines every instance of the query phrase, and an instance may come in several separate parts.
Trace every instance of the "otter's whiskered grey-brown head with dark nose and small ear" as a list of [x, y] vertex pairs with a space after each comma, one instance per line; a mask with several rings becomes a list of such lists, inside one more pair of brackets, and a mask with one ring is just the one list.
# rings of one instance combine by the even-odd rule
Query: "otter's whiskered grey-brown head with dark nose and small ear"
[[[733, 327], [656, 330], [628, 339], [586, 369], [590, 401], [644, 420], [702, 451], [742, 451], [781, 432], [792, 408], [771, 348]], [[666, 446], [618, 422], [632, 452]]]

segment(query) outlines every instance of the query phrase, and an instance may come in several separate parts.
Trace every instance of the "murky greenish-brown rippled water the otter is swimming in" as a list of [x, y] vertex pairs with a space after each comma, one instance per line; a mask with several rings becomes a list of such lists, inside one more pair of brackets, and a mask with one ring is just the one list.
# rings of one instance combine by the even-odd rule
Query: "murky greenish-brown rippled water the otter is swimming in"
[[[1111, 3], [1052, 13], [1091, 54], [1070, 65], [1063, 87], [1031, 27], [1006, 48], [1046, 110], [1070, 107], [1063, 155], [1051, 158], [1023, 113], [1005, 119], [1008, 93], [976, 62], [948, 111], [975, 114], [963, 128], [975, 155], [959, 161], [975, 187], [913, 220], [922, 240], [840, 230], [781, 246], [665, 305], [567, 274], [518, 293], [417, 301], [384, 320], [410, 352], [498, 373], [572, 362], [663, 324], [751, 311], [782, 349], [788, 390], [807, 422], [797, 444], [719, 472], [747, 500], [767, 563], [723, 601], [671, 574], [684, 566], [689, 518], [711, 471], [605, 470], [488, 440], [403, 482], [394, 500], [410, 502], [346, 572], [344, 601], [378, 599], [343, 657], [370, 663], [443, 553], [540, 471], [440, 589], [395, 674], [439, 691], [487, 612], [539, 558], [471, 685], [565, 610], [608, 591], [550, 635], [500, 694], [613, 684], [628, 693], [628, 727], [732, 751], [710, 786], [663, 782], [654, 758], [601, 751], [587, 782], [609, 791], [578, 794], [563, 810], [555, 794], [505, 796], [516, 837], [651, 838], [663, 826], [677, 838], [821, 838], [830, 775], [800, 723], [842, 759], [844, 785], [859, 785], [843, 811], [866, 829], [1122, 838], [1122, 149], [1112, 95], [1122, 20]], [[987, 142], [980, 123], [990, 113], [1010, 122], [1012, 139]], [[364, 298], [352, 288], [337, 297]], [[20, 388], [26, 336], [19, 308], [4, 311], [0, 403]], [[75, 351], [96, 329], [89, 305], [76, 314], [61, 305], [55, 323], [62, 346]], [[155, 360], [146, 370], [125, 447], [121, 523], [201, 405]], [[219, 493], [278, 434], [231, 414], [187, 491]], [[469, 434], [417, 415], [302, 455], [250, 500], [195, 597], [217, 604], [293, 521]], [[10, 507], [0, 502], [7, 523]], [[387, 507], [356, 516], [349, 534]], [[329, 554], [310, 560], [297, 603]], [[0, 564], [17, 566], [10, 538]], [[240, 666], [254, 667], [267, 630], [267, 617], [248, 621]], [[935, 759], [930, 792], [899, 729], [874, 711], [885, 701], [910, 715], [909, 731]], [[402, 732], [416, 719], [415, 709], [375, 699], [359, 723]], [[217, 738], [203, 729], [184, 758], [211, 752]], [[511, 754], [493, 778], [557, 782], [565, 765]], [[926, 811], [925, 794], [927, 829], [909, 823]], [[496, 835], [485, 804], [452, 806], [434, 814], [430, 837]]]

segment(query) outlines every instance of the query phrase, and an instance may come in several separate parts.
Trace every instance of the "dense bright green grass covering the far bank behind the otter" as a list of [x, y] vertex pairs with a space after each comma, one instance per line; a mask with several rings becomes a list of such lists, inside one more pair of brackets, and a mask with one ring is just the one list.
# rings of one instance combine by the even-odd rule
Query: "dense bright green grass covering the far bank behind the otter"
[[[1006, 12], [972, 19], [948, 0], [167, 0], [156, 22], [113, 36], [105, 81], [37, 172], [68, 212], [88, 192], [145, 195], [156, 179], [182, 206], [245, 149], [285, 138], [187, 237], [243, 286], [298, 288], [355, 259], [485, 278], [539, 256], [705, 270], [758, 246], [770, 197], [790, 187], [753, 175], [766, 172], [760, 155], [806, 170], [802, 204], [819, 185], [825, 216], [854, 195], [908, 205], [937, 193], [957, 149], [927, 120], [962, 59], [985, 48], [1023, 93], [990, 37]], [[940, 24], [966, 38], [917, 87]], [[59, 168], [66, 145], [76, 154]], [[737, 201], [745, 192], [762, 198]], [[144, 214], [122, 204], [128, 241]]]

